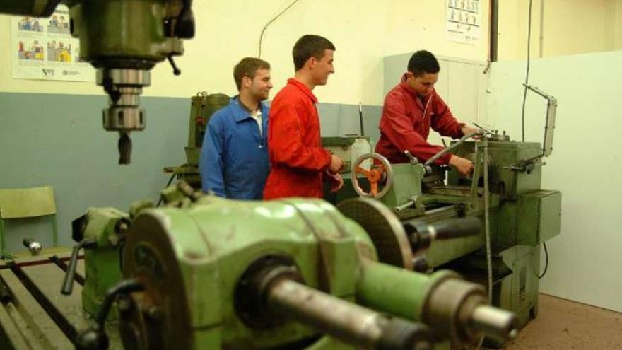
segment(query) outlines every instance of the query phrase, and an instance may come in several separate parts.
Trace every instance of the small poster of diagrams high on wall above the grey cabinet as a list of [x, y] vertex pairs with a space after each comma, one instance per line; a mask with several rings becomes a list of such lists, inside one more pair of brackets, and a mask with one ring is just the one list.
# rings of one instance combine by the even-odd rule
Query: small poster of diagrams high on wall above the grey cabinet
[[476, 44], [481, 37], [481, 1], [446, 0], [447, 40]]

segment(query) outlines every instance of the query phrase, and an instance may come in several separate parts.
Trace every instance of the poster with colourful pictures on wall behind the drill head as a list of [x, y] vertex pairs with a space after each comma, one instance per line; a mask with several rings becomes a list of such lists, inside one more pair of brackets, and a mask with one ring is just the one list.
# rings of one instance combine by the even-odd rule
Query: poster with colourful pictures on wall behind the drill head
[[95, 69], [80, 59], [80, 41], [69, 32], [69, 8], [49, 18], [11, 17], [13, 78], [95, 81]]

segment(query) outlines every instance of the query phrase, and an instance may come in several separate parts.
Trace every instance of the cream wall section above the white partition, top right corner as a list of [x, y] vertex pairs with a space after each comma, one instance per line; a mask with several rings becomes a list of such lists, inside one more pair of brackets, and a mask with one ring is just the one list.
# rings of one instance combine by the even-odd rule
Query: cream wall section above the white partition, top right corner
[[[527, 57], [529, 0], [499, 1], [498, 59]], [[533, 0], [532, 57], [622, 49], [622, 0]]]

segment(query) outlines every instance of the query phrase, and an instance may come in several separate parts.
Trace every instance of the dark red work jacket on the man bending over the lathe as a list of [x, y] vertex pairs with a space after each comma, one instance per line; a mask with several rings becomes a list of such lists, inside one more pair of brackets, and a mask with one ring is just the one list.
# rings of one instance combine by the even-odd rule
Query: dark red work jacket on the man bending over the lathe
[[[430, 127], [442, 136], [457, 139], [462, 137], [464, 124], [454, 118], [436, 91], [423, 97], [423, 101], [420, 100], [406, 83], [404, 74], [401, 83], [389, 91], [385, 98], [380, 117], [380, 139], [375, 151], [391, 163], [408, 162], [405, 150], [420, 162], [425, 162], [442, 150], [441, 146], [433, 146], [426, 141]], [[447, 164], [451, 156], [451, 153], [447, 153], [435, 164]]]

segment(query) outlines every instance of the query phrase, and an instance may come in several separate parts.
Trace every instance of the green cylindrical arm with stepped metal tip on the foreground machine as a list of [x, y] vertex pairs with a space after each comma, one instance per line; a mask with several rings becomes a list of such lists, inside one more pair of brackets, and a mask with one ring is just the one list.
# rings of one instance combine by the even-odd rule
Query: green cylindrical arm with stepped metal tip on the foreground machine
[[413, 274], [368, 262], [358, 297], [375, 310], [425, 322], [442, 339], [474, 342], [481, 334], [510, 339], [517, 332], [513, 313], [489, 306], [481, 286], [463, 281], [451, 272]]

